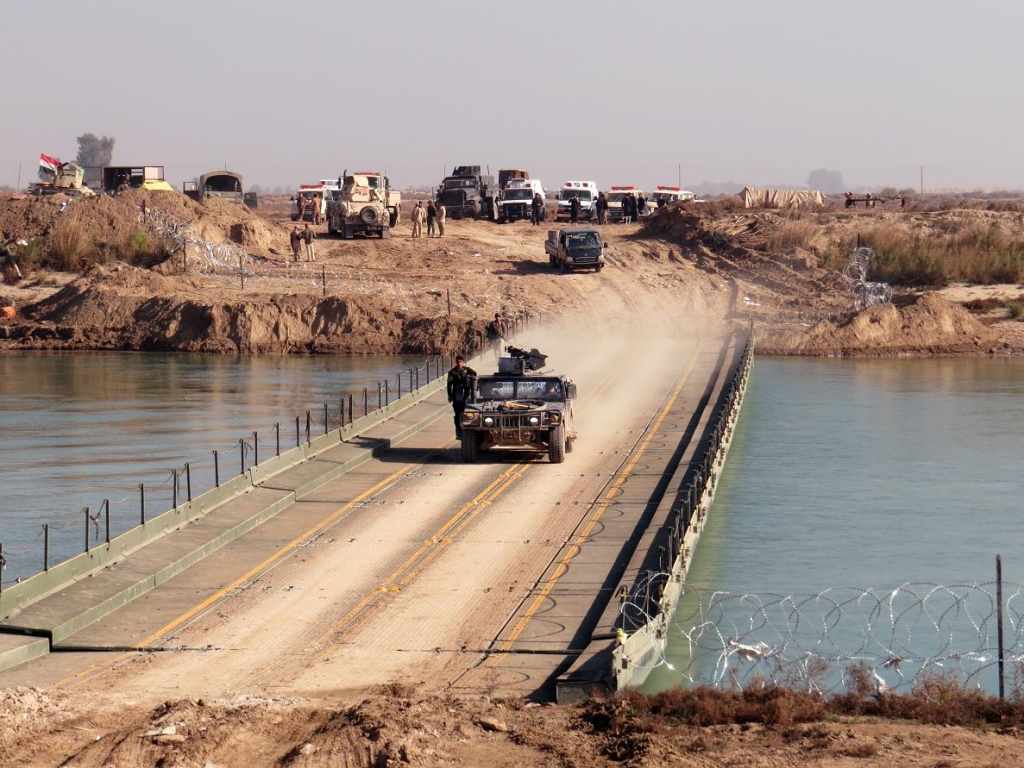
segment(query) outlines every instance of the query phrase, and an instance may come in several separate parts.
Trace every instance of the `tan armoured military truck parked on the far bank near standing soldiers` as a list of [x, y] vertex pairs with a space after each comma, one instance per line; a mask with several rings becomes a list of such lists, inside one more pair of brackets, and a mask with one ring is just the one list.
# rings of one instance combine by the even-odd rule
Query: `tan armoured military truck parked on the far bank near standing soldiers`
[[357, 233], [390, 238], [391, 229], [401, 220], [401, 193], [380, 171], [347, 170], [340, 178], [337, 194], [327, 190], [330, 200], [327, 229], [351, 240]]

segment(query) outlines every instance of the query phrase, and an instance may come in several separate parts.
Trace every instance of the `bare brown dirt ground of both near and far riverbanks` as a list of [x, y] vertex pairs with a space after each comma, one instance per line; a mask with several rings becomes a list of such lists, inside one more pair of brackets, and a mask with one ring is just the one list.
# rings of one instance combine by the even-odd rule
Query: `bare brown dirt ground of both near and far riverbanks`
[[[390, 240], [351, 242], [321, 226], [316, 261], [293, 262], [284, 201], [259, 215], [170, 194], [80, 200], [60, 210], [62, 202], [0, 200], [3, 240], [56, 241], [71, 232], [83, 263], [95, 262], [81, 276], [25, 268], [22, 280], [2, 286], [0, 297], [16, 313], [0, 324], [0, 349], [449, 352], [478, 342], [500, 311], [551, 327], [584, 326], [594, 343], [615, 327], [699, 333], [753, 322], [766, 354], [1024, 352], [1022, 324], [993, 303], [1018, 299], [1020, 286], [902, 290], [892, 303], [855, 311], [841, 271], [821, 266], [827, 243], [849, 241], [881, 218], [926, 234], [965, 216], [1024, 233], [1010, 213], [826, 211], [807, 214], [820, 248], [813, 240], [778, 248], [792, 220], [783, 214], [673, 207], [641, 224], [604, 227], [603, 271], [559, 274], [544, 254], [548, 226], [528, 222], [450, 221], [443, 238], [413, 240], [403, 221]], [[151, 221], [161, 211], [189, 224], [197, 239], [238, 248], [230, 259], [172, 250], [152, 264], [129, 265], [116, 256], [134, 232], [148, 230], [143, 208]], [[591, 343], [580, 338], [581, 347]], [[628, 698], [556, 707], [487, 691], [457, 695], [426, 674], [274, 694], [218, 687], [216, 665], [207, 665], [203, 681], [183, 676], [168, 690], [147, 691], [137, 682], [152, 678], [138, 668], [151, 666], [142, 659], [134, 670], [113, 669], [96, 686], [0, 691], [0, 763], [1001, 766], [1019, 762], [1021, 752], [1015, 727], [853, 716], [812, 722], [777, 707], [741, 724], [665, 719], [653, 727], [649, 719], [631, 721]]]

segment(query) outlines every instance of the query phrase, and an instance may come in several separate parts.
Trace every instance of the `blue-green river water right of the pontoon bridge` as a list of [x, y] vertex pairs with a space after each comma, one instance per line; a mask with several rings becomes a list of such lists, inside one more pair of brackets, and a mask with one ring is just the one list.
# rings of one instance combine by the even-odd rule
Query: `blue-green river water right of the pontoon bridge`
[[1022, 602], [1022, 449], [1024, 359], [758, 359], [674, 621], [675, 669], [646, 689], [723, 682], [723, 638], [868, 664], [942, 656], [933, 671], [989, 647], [996, 554]]

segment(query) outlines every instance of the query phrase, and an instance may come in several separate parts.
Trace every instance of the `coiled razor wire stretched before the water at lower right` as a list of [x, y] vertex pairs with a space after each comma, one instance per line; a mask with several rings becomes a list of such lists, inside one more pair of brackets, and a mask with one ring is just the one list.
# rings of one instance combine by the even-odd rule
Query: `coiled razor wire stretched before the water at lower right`
[[[669, 578], [652, 573], [638, 583], [622, 606], [624, 631], [653, 620], [644, 606]], [[1024, 583], [1004, 589], [1002, 658], [1020, 664]], [[834, 693], [847, 688], [853, 665], [871, 670], [878, 693], [909, 689], [918, 675], [930, 672], [983, 687], [998, 663], [997, 620], [994, 583], [839, 587], [806, 595], [684, 585], [670, 625], [673, 657], [662, 652], [651, 667], [678, 675], [681, 684], [718, 688], [772, 682]]]

